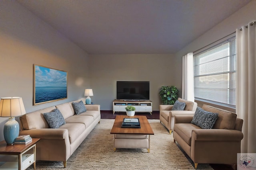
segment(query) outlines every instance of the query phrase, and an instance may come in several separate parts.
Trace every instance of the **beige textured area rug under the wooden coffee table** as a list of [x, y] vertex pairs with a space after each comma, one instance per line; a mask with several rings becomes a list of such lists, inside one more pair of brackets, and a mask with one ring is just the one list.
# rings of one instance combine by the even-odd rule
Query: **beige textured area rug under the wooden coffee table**
[[[110, 134], [114, 119], [101, 119], [100, 124], [67, 160], [65, 170], [194, 170], [191, 160], [174, 143], [172, 135], [159, 120], [148, 120], [154, 135], [147, 149], [116, 149]], [[32, 170], [30, 166], [28, 170]], [[64, 170], [62, 162], [37, 161], [37, 170]], [[213, 170], [209, 164], [198, 164], [197, 169]]]

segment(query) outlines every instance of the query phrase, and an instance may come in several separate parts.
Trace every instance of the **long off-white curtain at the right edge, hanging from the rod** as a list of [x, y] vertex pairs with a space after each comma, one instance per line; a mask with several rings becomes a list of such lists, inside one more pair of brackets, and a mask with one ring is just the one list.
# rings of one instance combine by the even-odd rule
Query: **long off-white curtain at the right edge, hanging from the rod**
[[256, 25], [236, 29], [236, 114], [244, 120], [241, 152], [256, 153]]

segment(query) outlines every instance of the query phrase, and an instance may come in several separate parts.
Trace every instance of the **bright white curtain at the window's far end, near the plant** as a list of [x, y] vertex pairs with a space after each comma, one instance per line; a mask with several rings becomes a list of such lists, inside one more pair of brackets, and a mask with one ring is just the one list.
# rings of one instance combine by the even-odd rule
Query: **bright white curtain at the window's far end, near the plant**
[[182, 57], [182, 99], [194, 102], [193, 53]]

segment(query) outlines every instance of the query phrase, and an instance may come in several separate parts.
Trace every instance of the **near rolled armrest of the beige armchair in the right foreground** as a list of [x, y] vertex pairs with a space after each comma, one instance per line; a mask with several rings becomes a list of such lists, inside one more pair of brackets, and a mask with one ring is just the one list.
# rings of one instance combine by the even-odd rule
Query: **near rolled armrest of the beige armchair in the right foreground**
[[234, 129], [194, 129], [192, 141], [241, 141], [244, 135]]

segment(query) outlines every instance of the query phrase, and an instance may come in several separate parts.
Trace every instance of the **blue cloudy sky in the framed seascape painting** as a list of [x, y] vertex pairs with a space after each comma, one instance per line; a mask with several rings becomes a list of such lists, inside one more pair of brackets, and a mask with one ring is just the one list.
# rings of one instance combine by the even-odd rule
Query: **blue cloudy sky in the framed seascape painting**
[[67, 87], [67, 72], [35, 66], [36, 87]]

